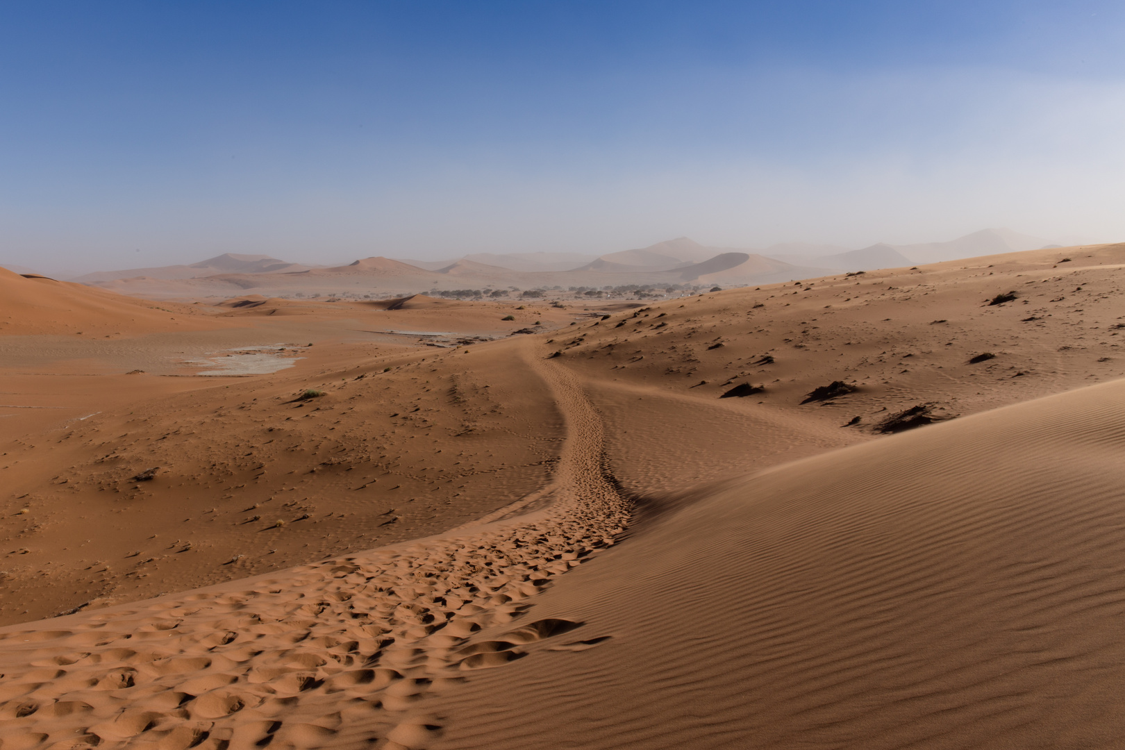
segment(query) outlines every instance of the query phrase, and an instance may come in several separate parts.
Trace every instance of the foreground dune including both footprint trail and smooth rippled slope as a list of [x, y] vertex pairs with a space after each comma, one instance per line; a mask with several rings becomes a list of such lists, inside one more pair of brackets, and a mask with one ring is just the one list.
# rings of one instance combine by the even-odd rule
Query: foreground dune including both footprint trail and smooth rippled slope
[[4, 629], [3, 747], [1115, 747], [1125, 382], [669, 499], [593, 553], [626, 506], [537, 367], [547, 509]]

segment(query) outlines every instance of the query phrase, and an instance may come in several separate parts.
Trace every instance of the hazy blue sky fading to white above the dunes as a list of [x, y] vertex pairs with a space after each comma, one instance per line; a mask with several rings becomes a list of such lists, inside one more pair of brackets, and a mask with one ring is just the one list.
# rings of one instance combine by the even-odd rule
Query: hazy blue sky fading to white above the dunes
[[0, 260], [1125, 240], [1125, 3], [0, 4]]

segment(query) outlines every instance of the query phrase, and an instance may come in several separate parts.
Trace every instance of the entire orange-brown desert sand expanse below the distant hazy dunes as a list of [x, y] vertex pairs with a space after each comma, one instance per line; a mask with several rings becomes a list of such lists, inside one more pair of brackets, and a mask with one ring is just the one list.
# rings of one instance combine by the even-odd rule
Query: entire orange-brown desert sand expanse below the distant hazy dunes
[[1117, 747], [1123, 279], [3, 275], [0, 748]]

